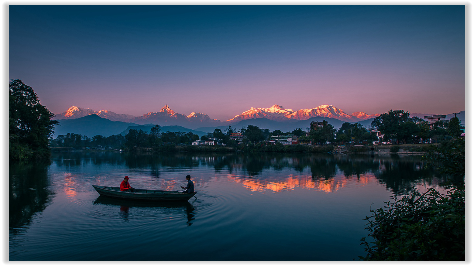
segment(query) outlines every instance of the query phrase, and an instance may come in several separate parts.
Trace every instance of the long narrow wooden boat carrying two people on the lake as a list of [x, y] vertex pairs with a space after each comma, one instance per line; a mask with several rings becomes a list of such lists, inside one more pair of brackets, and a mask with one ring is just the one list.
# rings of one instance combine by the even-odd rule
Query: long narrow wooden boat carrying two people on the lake
[[137, 189], [135, 192], [120, 191], [120, 187], [115, 186], [95, 186], [92, 185], [101, 196], [141, 201], [187, 201], [194, 193], [181, 193], [180, 191]]

